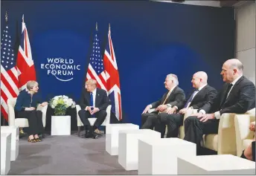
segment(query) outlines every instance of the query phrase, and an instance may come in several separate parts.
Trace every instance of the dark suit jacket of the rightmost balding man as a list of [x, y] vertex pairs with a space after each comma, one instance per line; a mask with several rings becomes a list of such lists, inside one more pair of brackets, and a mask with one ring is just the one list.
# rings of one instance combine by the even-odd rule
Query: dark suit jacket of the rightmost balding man
[[246, 111], [255, 108], [255, 85], [249, 81], [249, 79], [246, 79], [245, 76], [242, 76], [237, 80], [233, 85], [227, 100], [225, 100], [225, 92], [227, 91], [227, 88], [228, 83], [225, 83], [223, 89], [217, 94], [216, 99], [211, 102], [211, 112], [220, 111], [220, 114], [243, 114]]

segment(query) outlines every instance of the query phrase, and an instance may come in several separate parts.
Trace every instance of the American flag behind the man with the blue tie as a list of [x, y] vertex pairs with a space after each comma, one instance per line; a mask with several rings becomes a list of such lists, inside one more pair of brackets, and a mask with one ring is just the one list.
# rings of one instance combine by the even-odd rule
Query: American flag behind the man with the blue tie
[[92, 43], [92, 53], [89, 59], [89, 66], [86, 74], [87, 79], [95, 79], [97, 81], [97, 87], [106, 91], [106, 75], [104, 72], [103, 59], [100, 54], [100, 42], [97, 33], [97, 24], [95, 37]]

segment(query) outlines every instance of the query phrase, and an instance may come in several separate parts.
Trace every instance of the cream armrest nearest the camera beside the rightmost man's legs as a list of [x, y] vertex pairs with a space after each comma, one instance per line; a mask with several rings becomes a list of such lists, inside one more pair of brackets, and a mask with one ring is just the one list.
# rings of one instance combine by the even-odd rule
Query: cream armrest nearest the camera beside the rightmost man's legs
[[237, 143], [234, 129], [234, 113], [224, 113], [220, 117], [218, 128], [218, 154], [236, 154]]

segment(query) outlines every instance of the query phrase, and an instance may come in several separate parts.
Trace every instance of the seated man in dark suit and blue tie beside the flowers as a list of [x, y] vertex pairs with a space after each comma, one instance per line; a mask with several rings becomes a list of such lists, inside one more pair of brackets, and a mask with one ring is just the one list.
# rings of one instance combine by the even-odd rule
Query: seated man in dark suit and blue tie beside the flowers
[[[106, 119], [106, 108], [110, 104], [109, 98], [106, 95], [106, 91], [97, 88], [97, 82], [95, 79], [88, 79], [86, 81], [86, 89], [83, 90], [82, 97], [80, 99], [81, 110], [78, 112], [80, 120], [85, 126], [86, 138], [97, 138], [98, 134], [95, 133], [98, 127]], [[89, 123], [89, 117], [97, 117], [94, 126]]]

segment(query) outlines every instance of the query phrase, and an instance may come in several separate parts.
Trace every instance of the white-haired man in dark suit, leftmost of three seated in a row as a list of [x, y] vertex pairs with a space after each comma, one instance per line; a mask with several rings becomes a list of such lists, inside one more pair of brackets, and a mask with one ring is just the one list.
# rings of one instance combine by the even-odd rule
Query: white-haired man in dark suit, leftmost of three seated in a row
[[[151, 128], [153, 129], [153, 125], [156, 124], [157, 114], [159, 112], [167, 111], [172, 114], [171, 107], [178, 105], [179, 102], [183, 102], [185, 100], [184, 91], [179, 88], [179, 80], [175, 74], [168, 74], [166, 76], [164, 82], [165, 88], [167, 88], [167, 92], [161, 97], [160, 100], [147, 105], [147, 107], [142, 112], [141, 116], [141, 128]], [[147, 113], [150, 108], [156, 108], [156, 111], [153, 113]]]

